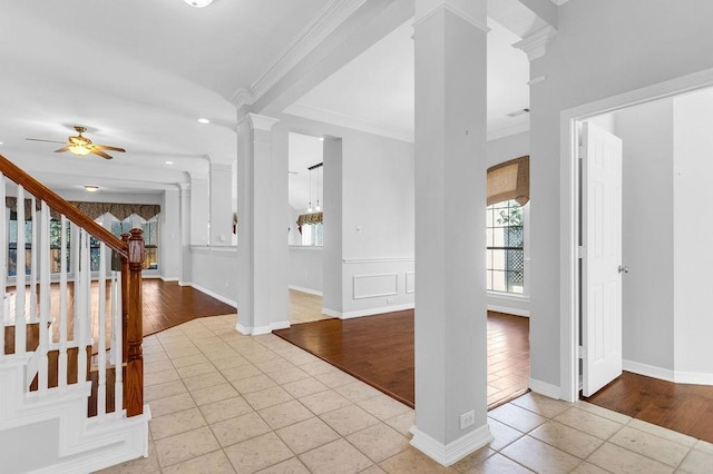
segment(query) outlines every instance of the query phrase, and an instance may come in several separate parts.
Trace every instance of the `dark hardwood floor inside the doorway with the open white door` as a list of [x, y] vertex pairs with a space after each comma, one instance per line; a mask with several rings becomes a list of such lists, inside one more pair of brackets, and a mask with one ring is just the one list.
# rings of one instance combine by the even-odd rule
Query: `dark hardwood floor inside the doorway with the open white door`
[[624, 372], [583, 399], [713, 443], [711, 385], [674, 384]]

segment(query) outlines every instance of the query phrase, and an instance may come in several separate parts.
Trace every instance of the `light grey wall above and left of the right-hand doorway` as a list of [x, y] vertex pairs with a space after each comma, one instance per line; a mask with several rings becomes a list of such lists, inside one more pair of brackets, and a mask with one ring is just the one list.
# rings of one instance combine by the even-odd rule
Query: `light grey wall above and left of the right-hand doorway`
[[560, 112], [713, 68], [713, 2], [572, 0], [558, 32], [530, 65], [531, 378], [560, 383]]

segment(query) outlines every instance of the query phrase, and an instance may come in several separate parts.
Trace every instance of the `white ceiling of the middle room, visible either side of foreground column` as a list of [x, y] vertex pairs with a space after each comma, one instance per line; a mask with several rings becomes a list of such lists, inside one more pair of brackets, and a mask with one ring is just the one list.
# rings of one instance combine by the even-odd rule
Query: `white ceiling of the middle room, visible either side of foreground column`
[[[413, 20], [364, 51], [285, 112], [413, 141]], [[525, 131], [529, 116], [529, 61], [512, 47], [520, 40], [488, 19], [488, 135]], [[344, 93], [348, 91], [348, 93]]]

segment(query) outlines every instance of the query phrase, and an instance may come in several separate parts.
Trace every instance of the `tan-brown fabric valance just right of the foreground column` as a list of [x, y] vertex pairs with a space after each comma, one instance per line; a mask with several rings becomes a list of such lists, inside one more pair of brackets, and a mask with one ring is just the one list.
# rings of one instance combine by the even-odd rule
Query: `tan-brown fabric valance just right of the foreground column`
[[524, 156], [488, 168], [488, 206], [515, 199], [520, 206], [530, 200], [530, 157]]

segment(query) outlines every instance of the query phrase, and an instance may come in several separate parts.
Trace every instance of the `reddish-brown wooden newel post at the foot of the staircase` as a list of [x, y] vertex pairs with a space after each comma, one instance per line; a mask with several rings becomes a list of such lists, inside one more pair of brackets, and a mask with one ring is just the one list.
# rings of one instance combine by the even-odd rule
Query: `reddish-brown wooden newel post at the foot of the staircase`
[[144, 267], [144, 238], [141, 229], [131, 229], [128, 258], [128, 354], [126, 362], [126, 414], [136, 416], [144, 413], [144, 314], [141, 270]]

